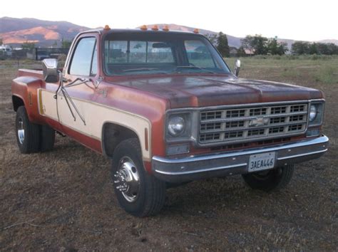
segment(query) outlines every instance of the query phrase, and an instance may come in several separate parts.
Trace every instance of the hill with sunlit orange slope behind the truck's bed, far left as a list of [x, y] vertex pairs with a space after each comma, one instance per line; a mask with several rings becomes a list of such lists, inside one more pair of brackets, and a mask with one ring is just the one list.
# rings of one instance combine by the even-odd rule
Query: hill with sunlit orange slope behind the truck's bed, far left
[[28, 41], [38, 46], [61, 45], [61, 40], [72, 40], [77, 33], [88, 30], [66, 21], [0, 18], [0, 38], [5, 44], [19, 46]]

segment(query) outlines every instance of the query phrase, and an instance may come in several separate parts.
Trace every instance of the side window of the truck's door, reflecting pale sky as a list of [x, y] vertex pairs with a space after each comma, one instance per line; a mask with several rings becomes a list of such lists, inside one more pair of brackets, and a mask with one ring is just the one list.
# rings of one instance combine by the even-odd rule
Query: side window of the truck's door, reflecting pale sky
[[97, 72], [96, 38], [81, 38], [78, 42], [69, 73], [71, 75], [95, 75]]

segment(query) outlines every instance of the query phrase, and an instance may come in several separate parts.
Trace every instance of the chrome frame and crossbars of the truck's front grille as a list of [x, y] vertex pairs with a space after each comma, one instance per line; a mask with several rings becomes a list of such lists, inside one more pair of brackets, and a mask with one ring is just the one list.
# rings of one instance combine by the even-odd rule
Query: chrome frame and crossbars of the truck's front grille
[[[292, 107], [302, 107], [302, 110], [292, 112]], [[248, 140], [260, 141], [271, 137], [276, 138], [281, 136], [289, 137], [291, 135], [302, 135], [302, 133], [307, 130], [308, 107], [309, 102], [288, 103], [287, 105], [280, 105], [277, 103], [267, 105], [263, 103], [263, 105], [260, 106], [244, 106], [241, 108], [236, 107], [234, 109], [202, 110], [198, 112], [199, 130], [196, 137], [198, 140], [197, 144], [198, 146], [230, 145], [237, 142], [247, 142]], [[278, 108], [280, 111], [277, 111], [275, 114], [274, 108]], [[282, 108], [284, 108], [284, 110], [282, 110]], [[258, 110], [259, 115], [255, 115], [256, 110]], [[235, 117], [232, 117], [232, 112], [235, 112]], [[240, 112], [242, 114], [240, 114]], [[292, 117], [299, 115], [302, 115], [302, 120], [290, 121]], [[208, 118], [209, 116], [211, 117], [210, 119]], [[271, 118], [276, 117], [283, 118], [284, 121], [276, 124], [273, 122], [270, 123], [270, 120], [272, 120]], [[252, 120], [257, 120], [258, 118], [267, 120], [267, 124], [250, 126]], [[226, 127], [226, 125], [231, 122], [235, 122], [236, 124], [242, 123], [242, 125], [240, 125], [241, 127]], [[209, 130], [207, 125], [210, 124], [218, 124], [219, 129]], [[292, 125], [295, 125], [295, 130], [290, 130]], [[300, 128], [298, 129], [297, 126], [299, 125]], [[202, 126], [207, 128], [202, 130]], [[272, 131], [278, 127], [279, 131]], [[281, 127], [282, 132], [280, 132]], [[232, 132], [235, 133], [235, 135], [230, 136]], [[257, 134], [250, 135], [250, 132], [257, 132]]]

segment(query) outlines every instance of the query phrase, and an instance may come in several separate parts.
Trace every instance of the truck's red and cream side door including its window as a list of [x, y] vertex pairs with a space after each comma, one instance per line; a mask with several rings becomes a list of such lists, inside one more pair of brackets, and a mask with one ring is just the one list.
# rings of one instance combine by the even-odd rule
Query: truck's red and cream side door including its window
[[91, 138], [97, 138], [91, 127], [95, 120], [91, 100], [98, 78], [98, 34], [83, 34], [71, 50], [63, 70], [64, 88], [57, 95], [58, 117], [66, 135], [88, 146]]

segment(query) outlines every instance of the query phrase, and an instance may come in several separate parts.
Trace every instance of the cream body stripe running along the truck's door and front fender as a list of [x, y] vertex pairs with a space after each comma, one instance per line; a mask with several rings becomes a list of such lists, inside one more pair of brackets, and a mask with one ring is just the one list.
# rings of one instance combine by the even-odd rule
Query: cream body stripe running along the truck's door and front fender
[[[151, 124], [148, 119], [113, 107], [93, 103], [89, 100], [71, 98], [78, 111], [85, 119], [85, 125], [81, 118], [76, 114], [73, 107], [71, 107], [76, 116], [76, 120], [74, 121], [63, 96], [60, 94], [58, 95], [58, 104], [56, 105], [56, 99], [53, 98], [53, 95], [55, 95], [55, 93], [51, 91], [39, 89], [39, 106], [42, 106], [39, 107], [39, 111], [40, 113], [42, 112], [44, 116], [50, 117], [53, 120], [59, 120], [62, 125], [65, 125], [72, 130], [76, 130], [83, 135], [88, 135], [96, 140], [100, 140], [101, 142], [103, 125], [106, 122], [113, 122], [128, 127], [138, 135], [143, 159], [147, 161], [150, 160]], [[145, 129], [148, 130], [148, 149], [145, 149]]]

